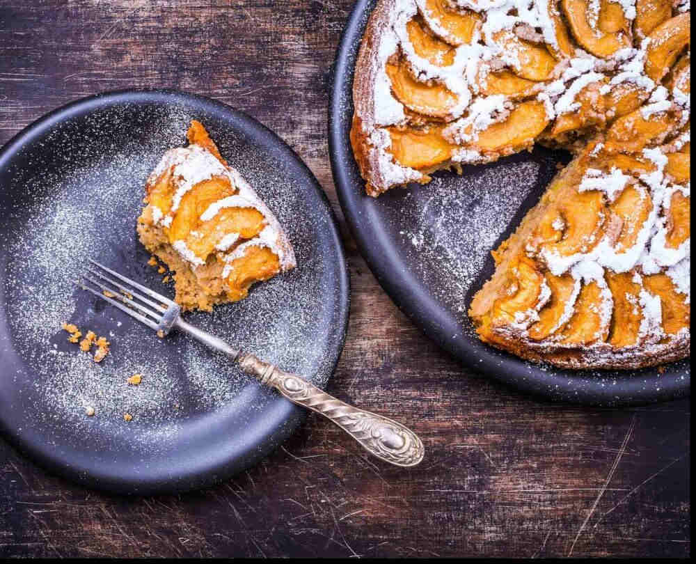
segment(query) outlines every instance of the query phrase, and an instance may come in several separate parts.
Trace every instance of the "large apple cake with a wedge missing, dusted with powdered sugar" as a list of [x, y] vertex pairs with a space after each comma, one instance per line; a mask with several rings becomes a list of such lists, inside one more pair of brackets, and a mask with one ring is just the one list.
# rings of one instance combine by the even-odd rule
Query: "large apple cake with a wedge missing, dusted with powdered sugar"
[[481, 340], [565, 368], [688, 357], [688, 0], [381, 0], [353, 95], [370, 196], [534, 143], [574, 156], [492, 251]]

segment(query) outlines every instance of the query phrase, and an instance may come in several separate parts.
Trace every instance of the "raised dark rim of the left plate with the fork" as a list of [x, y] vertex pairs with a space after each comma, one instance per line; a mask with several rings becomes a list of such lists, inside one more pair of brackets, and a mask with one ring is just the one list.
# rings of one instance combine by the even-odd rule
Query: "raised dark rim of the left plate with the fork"
[[[81, 97], [77, 100], [72, 100], [67, 104], [52, 109], [22, 128], [22, 130], [13, 135], [0, 147], [0, 169], [6, 166], [6, 163], [13, 158], [13, 155], [16, 155], [17, 152], [20, 152], [25, 146], [31, 145], [38, 136], [46, 134], [52, 130], [52, 127], [56, 127], [56, 125], [70, 119], [75, 113], [84, 115], [82, 112], [85, 111], [89, 113], [95, 109], [125, 103], [152, 103], [153, 100], [157, 102], [169, 101], [170, 103], [180, 101], [184, 104], [188, 102], [188, 105], [193, 106], [198, 105], [204, 108], [212, 107], [216, 108], [220, 113], [227, 114], [227, 116], [232, 119], [241, 121], [243, 123], [243, 127], [241, 128], [242, 131], [254, 130], [257, 139], [262, 138], [275, 143], [278, 150], [280, 150], [281, 158], [293, 159], [296, 165], [299, 166], [299, 170], [303, 171], [308, 180], [310, 180], [305, 189], [309, 190], [310, 187], [314, 189], [319, 201], [324, 203], [330, 219], [328, 224], [331, 246], [335, 248], [335, 254], [338, 258], [338, 264], [335, 266], [338, 285], [337, 288], [335, 288], [336, 291], [332, 292], [336, 296], [336, 308], [338, 311], [338, 323], [336, 324], [336, 329], [338, 329], [338, 331], [336, 331], [338, 334], [338, 338], [336, 339], [338, 354], [336, 355], [333, 366], [331, 366], [326, 384], [319, 386], [322, 389], [326, 388], [335, 374], [336, 367], [338, 366], [343, 349], [345, 348], [350, 317], [351, 284], [347, 267], [345, 245], [340, 235], [340, 227], [338, 225], [336, 213], [331, 206], [328, 196], [326, 196], [326, 192], [319, 183], [319, 180], [317, 180], [314, 173], [296, 151], [290, 147], [280, 135], [259, 120], [245, 111], [220, 102], [219, 100], [213, 100], [204, 95], [190, 93], [176, 88], [132, 87], [103, 91]], [[191, 102], [193, 102], [193, 104]], [[0, 260], [0, 267], [4, 272], [8, 257], [3, 253], [3, 256], [0, 258], [2, 259]], [[0, 287], [0, 297], [2, 297], [3, 300], [6, 299], [3, 287]], [[0, 359], [12, 355], [16, 356], [14, 348], [10, 348], [9, 351], [0, 350]], [[14, 367], [13, 372], [15, 372]], [[226, 462], [228, 471], [223, 471], [223, 473], [216, 473], [219, 468], [212, 468], [207, 471], [201, 471], [196, 468], [193, 472], [187, 473], [185, 476], [150, 476], [146, 477], [146, 479], [143, 479], [143, 476], [139, 476], [139, 479], [135, 480], [130, 476], [122, 477], [117, 476], [116, 473], [104, 471], [104, 465], [102, 465], [101, 472], [94, 471], [94, 468], [87, 471], [83, 467], [80, 467], [79, 464], [76, 465], [72, 461], [66, 461], [64, 458], [61, 458], [60, 455], [55, 455], [51, 448], [47, 448], [47, 442], [41, 441], [40, 433], [35, 433], [33, 430], [22, 430], [18, 432], [17, 429], [13, 428], [11, 423], [6, 422], [2, 416], [0, 416], [0, 433], [3, 439], [6, 439], [9, 444], [13, 445], [18, 451], [39, 464], [40, 467], [53, 475], [66, 478], [72, 483], [77, 483], [90, 489], [116, 494], [173, 494], [187, 492], [193, 489], [201, 489], [221, 483], [255, 466], [264, 457], [276, 451], [280, 444], [283, 444], [283, 442], [289, 439], [308, 416], [307, 409], [294, 405], [279, 394], [276, 394], [276, 397], [269, 400], [269, 412], [271, 412], [271, 409], [274, 414], [277, 413], [273, 425], [266, 425], [264, 427], [264, 432], [256, 436], [256, 441], [246, 441], [243, 448], [237, 449], [235, 456], [231, 457], [230, 460]]]

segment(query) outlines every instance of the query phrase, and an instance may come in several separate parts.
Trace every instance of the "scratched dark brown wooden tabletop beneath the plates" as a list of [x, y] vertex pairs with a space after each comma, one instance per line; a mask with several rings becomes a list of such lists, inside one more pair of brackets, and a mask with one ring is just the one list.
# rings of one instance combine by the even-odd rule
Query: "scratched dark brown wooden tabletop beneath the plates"
[[[242, 109], [299, 153], [339, 217], [326, 141], [348, 0], [0, 1], [0, 144], [128, 86]], [[688, 400], [540, 402], [471, 373], [392, 304], [345, 235], [352, 284], [329, 392], [424, 439], [370, 460], [318, 416], [227, 483], [123, 498], [49, 475], [0, 439], [0, 556], [688, 556]]]

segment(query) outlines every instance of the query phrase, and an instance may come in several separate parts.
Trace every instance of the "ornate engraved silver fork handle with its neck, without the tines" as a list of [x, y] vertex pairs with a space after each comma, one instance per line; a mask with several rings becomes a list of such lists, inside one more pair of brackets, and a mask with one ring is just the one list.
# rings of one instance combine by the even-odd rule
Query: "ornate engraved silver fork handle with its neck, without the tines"
[[244, 372], [255, 376], [262, 384], [275, 388], [291, 402], [333, 421], [356, 439], [366, 451], [381, 460], [403, 467], [416, 466], [423, 460], [422, 441], [416, 433], [401, 423], [337, 400], [303, 377], [285, 372], [253, 354], [242, 352], [181, 318], [177, 318], [174, 325], [201, 343], [235, 359]]

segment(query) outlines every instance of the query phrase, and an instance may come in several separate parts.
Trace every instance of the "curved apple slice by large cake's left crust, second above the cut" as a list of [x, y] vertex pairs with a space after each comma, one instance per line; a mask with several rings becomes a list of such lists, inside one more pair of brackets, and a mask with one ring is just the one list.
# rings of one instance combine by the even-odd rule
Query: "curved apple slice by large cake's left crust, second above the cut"
[[404, 63], [387, 64], [387, 75], [397, 100], [413, 111], [444, 118], [457, 105], [457, 96], [443, 84], [428, 86], [414, 80]]

